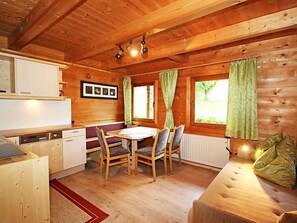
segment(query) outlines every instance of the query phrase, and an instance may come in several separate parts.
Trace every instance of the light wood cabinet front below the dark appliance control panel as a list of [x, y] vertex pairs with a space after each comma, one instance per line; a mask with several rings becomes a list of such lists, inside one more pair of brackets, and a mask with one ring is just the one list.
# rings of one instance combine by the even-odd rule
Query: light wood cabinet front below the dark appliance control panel
[[63, 141], [62, 139], [46, 140], [20, 145], [38, 156], [48, 156], [49, 173], [63, 170]]

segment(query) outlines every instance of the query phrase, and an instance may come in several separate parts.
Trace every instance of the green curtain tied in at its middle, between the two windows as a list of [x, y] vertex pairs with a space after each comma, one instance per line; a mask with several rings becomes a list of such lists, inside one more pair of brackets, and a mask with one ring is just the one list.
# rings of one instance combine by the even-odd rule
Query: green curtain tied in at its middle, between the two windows
[[162, 87], [163, 98], [166, 106], [166, 119], [164, 128], [173, 129], [174, 119], [172, 113], [172, 103], [175, 94], [176, 82], [177, 82], [177, 70], [167, 70], [160, 72], [160, 81]]

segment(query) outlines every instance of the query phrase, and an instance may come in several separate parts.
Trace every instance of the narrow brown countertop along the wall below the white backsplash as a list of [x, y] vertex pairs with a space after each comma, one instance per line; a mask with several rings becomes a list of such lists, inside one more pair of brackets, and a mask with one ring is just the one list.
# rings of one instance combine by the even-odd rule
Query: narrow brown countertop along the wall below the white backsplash
[[71, 130], [71, 129], [79, 129], [79, 128], [85, 128], [85, 126], [80, 124], [74, 124], [74, 125], [55, 125], [55, 126], [25, 128], [25, 129], [9, 129], [9, 130], [1, 130], [0, 136], [4, 136], [7, 138], [7, 137], [13, 137], [13, 136], [21, 136], [25, 134], [34, 134], [39, 132], [63, 131], [63, 130]]

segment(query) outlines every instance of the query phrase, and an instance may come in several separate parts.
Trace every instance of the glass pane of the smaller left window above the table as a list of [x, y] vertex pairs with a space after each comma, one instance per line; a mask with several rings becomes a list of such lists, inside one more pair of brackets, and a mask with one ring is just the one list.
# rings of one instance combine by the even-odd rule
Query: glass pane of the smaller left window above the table
[[154, 85], [133, 87], [133, 119], [154, 119]]

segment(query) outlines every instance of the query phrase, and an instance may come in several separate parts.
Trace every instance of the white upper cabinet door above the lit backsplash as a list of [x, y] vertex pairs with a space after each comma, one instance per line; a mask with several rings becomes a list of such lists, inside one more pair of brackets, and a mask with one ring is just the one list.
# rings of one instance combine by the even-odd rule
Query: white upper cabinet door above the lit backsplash
[[18, 95], [58, 97], [58, 66], [16, 59], [16, 88]]

